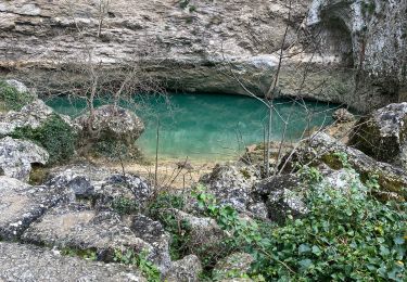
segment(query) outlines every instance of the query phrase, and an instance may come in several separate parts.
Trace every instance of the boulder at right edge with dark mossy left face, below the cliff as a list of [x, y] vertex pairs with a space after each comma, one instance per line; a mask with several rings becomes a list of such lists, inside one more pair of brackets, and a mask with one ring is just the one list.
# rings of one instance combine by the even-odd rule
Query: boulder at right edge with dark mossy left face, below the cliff
[[349, 144], [380, 162], [407, 169], [407, 103], [390, 104], [361, 118]]

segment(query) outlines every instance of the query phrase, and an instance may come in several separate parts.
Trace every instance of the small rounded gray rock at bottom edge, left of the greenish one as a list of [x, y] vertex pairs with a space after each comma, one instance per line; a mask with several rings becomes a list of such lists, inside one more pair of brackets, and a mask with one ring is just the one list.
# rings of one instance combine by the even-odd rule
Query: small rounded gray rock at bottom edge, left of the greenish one
[[174, 261], [173, 267], [165, 277], [168, 282], [198, 282], [202, 271], [201, 260], [195, 255], [189, 255]]

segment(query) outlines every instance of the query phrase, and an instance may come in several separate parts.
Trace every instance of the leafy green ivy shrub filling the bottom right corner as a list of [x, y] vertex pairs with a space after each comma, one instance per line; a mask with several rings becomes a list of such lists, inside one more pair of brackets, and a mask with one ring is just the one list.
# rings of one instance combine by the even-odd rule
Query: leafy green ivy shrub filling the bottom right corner
[[366, 188], [356, 179], [339, 191], [317, 182], [315, 169], [308, 171], [309, 211], [281, 227], [243, 221], [204, 192], [196, 198], [232, 235], [229, 244], [254, 256], [256, 280], [406, 281], [407, 205], [377, 201], [370, 195], [374, 180]]

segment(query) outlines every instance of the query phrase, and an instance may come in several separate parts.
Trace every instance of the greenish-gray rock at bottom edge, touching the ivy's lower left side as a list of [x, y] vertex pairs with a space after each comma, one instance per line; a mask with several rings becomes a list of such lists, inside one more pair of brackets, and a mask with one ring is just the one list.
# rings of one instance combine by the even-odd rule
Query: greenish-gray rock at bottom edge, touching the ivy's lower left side
[[253, 256], [247, 253], [231, 254], [216, 264], [213, 270], [214, 279], [216, 281], [233, 281], [232, 279], [247, 274], [253, 261]]

